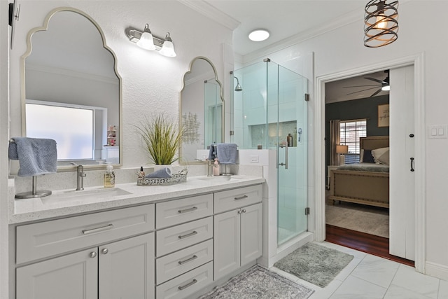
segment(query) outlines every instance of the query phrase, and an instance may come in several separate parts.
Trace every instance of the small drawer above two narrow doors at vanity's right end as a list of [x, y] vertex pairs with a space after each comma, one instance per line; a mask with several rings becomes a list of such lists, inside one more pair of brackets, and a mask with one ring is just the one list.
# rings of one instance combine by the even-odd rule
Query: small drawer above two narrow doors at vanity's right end
[[249, 186], [215, 193], [215, 214], [262, 201], [262, 186]]

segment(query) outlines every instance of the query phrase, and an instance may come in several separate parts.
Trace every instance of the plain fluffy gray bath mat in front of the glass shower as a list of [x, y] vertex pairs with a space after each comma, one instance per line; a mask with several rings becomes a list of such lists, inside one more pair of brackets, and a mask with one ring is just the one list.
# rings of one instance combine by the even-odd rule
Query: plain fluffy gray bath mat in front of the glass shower
[[352, 259], [350, 254], [308, 243], [276, 262], [274, 267], [325, 287]]

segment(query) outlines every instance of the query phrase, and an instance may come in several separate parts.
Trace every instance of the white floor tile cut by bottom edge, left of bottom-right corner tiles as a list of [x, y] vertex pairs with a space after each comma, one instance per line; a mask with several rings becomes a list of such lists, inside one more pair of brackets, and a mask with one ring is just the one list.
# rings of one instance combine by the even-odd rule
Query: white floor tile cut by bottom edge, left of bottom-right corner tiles
[[386, 288], [349, 276], [331, 295], [331, 299], [382, 299]]

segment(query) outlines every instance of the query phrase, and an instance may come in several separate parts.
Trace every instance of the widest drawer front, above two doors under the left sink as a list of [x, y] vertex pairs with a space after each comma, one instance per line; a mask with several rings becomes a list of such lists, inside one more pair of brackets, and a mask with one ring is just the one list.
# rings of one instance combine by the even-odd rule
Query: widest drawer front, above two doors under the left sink
[[154, 204], [20, 225], [16, 263], [154, 230]]

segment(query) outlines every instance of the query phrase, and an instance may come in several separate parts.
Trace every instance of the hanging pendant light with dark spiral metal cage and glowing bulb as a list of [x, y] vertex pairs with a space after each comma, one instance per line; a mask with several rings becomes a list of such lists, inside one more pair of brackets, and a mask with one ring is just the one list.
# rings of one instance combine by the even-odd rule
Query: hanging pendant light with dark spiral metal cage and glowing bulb
[[398, 38], [398, 1], [369, 1], [364, 22], [364, 46], [379, 48], [393, 43]]

